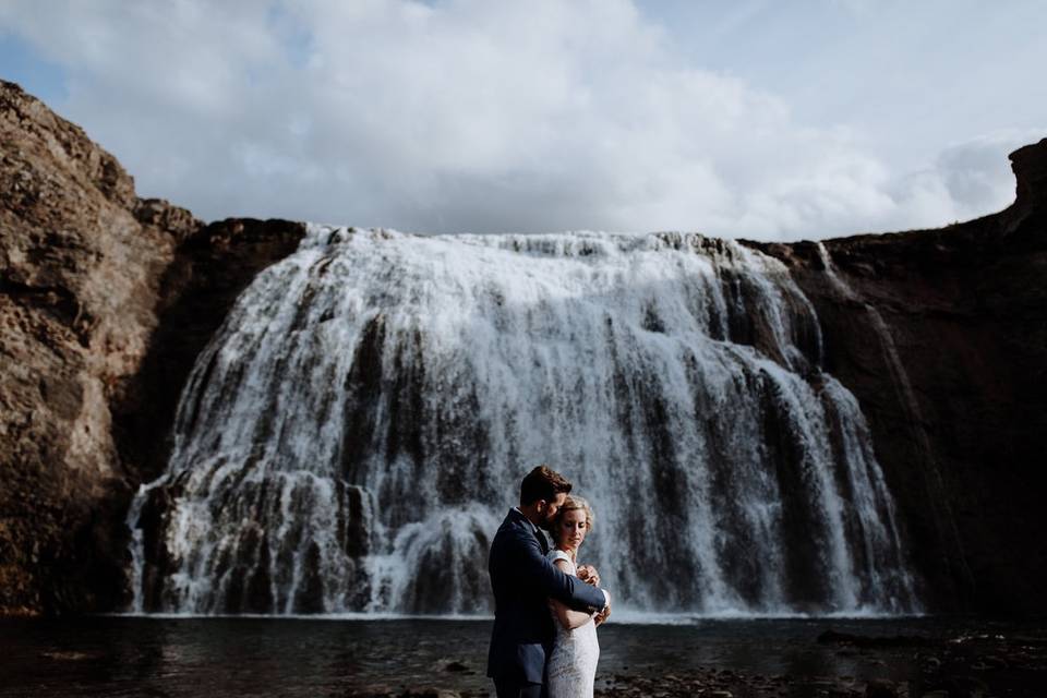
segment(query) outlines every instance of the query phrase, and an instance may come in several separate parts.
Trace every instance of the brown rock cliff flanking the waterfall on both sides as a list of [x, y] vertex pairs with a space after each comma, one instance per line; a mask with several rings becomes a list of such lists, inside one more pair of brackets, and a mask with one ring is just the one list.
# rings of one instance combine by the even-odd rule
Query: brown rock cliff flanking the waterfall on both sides
[[[301, 224], [142, 200], [81, 129], [0, 83], [0, 614], [121, 607], [124, 517], [182, 384]], [[1007, 210], [939, 230], [748, 243], [784, 261], [859, 399], [937, 609], [1047, 607], [1047, 141]]]

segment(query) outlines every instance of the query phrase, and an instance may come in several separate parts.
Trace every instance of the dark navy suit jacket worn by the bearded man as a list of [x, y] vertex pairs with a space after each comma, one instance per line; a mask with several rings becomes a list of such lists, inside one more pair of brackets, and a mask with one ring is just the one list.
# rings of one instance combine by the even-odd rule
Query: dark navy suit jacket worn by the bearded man
[[488, 676], [544, 683], [545, 655], [556, 637], [549, 600], [590, 613], [604, 605], [600, 589], [557, 569], [545, 559], [547, 551], [545, 537], [534, 532], [520, 512], [509, 509], [488, 558], [494, 590]]

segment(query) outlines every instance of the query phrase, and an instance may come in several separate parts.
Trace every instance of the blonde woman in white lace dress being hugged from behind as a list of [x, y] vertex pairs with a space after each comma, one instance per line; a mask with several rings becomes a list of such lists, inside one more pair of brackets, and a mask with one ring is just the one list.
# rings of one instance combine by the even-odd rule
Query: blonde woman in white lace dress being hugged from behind
[[[555, 547], [549, 559], [565, 574], [578, 576], [578, 549], [592, 530], [592, 509], [581, 497], [568, 496], [553, 525]], [[549, 602], [556, 621], [556, 639], [545, 664], [549, 698], [592, 698], [600, 645], [599, 614], [573, 611], [558, 601]]]

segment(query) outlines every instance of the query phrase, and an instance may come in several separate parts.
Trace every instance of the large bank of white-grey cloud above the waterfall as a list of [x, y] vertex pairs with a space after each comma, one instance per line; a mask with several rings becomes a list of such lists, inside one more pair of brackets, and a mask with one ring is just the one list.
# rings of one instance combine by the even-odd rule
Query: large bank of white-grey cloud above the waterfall
[[205, 218], [823, 237], [1000, 208], [1006, 149], [1036, 140], [899, 176], [861, 131], [689, 64], [626, 0], [16, 1], [0, 27], [65, 67], [57, 108], [140, 193]]

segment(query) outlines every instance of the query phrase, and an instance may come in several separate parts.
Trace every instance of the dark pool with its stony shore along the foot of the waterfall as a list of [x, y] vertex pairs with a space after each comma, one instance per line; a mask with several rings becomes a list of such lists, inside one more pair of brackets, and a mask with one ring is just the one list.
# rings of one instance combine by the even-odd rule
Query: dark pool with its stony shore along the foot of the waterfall
[[[633, 621], [599, 630], [597, 695], [813, 698], [872, 684], [1032, 697], [1047, 684], [1043, 618]], [[0, 619], [0, 696], [493, 695], [490, 633], [490, 619]]]

